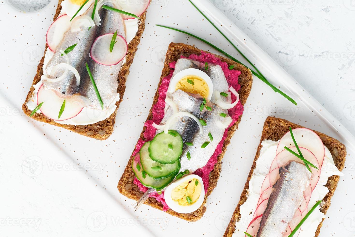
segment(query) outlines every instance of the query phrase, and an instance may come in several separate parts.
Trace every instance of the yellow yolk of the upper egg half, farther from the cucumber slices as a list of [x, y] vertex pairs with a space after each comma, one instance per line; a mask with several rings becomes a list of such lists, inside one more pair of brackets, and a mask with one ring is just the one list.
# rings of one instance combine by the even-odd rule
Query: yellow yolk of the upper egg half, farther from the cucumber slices
[[180, 89], [192, 94], [200, 94], [203, 98], [207, 98], [209, 93], [209, 88], [206, 81], [201, 77], [194, 75], [182, 77], [176, 84], [175, 89]]

